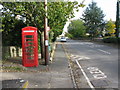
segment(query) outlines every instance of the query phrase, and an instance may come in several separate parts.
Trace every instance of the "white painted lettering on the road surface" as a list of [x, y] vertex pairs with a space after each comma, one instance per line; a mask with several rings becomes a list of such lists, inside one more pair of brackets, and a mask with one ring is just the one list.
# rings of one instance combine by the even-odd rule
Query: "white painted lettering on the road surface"
[[89, 72], [91, 74], [93, 74], [93, 77], [95, 79], [107, 78], [107, 76], [101, 70], [99, 70], [97, 67], [89, 67], [87, 69], [89, 70]]

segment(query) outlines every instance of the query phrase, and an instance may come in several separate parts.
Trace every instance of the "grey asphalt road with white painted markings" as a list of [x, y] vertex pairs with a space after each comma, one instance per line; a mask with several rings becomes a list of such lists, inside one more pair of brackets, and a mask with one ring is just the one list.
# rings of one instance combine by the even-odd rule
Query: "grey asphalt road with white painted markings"
[[68, 40], [63, 46], [89, 87], [118, 88], [118, 48], [77, 40]]

